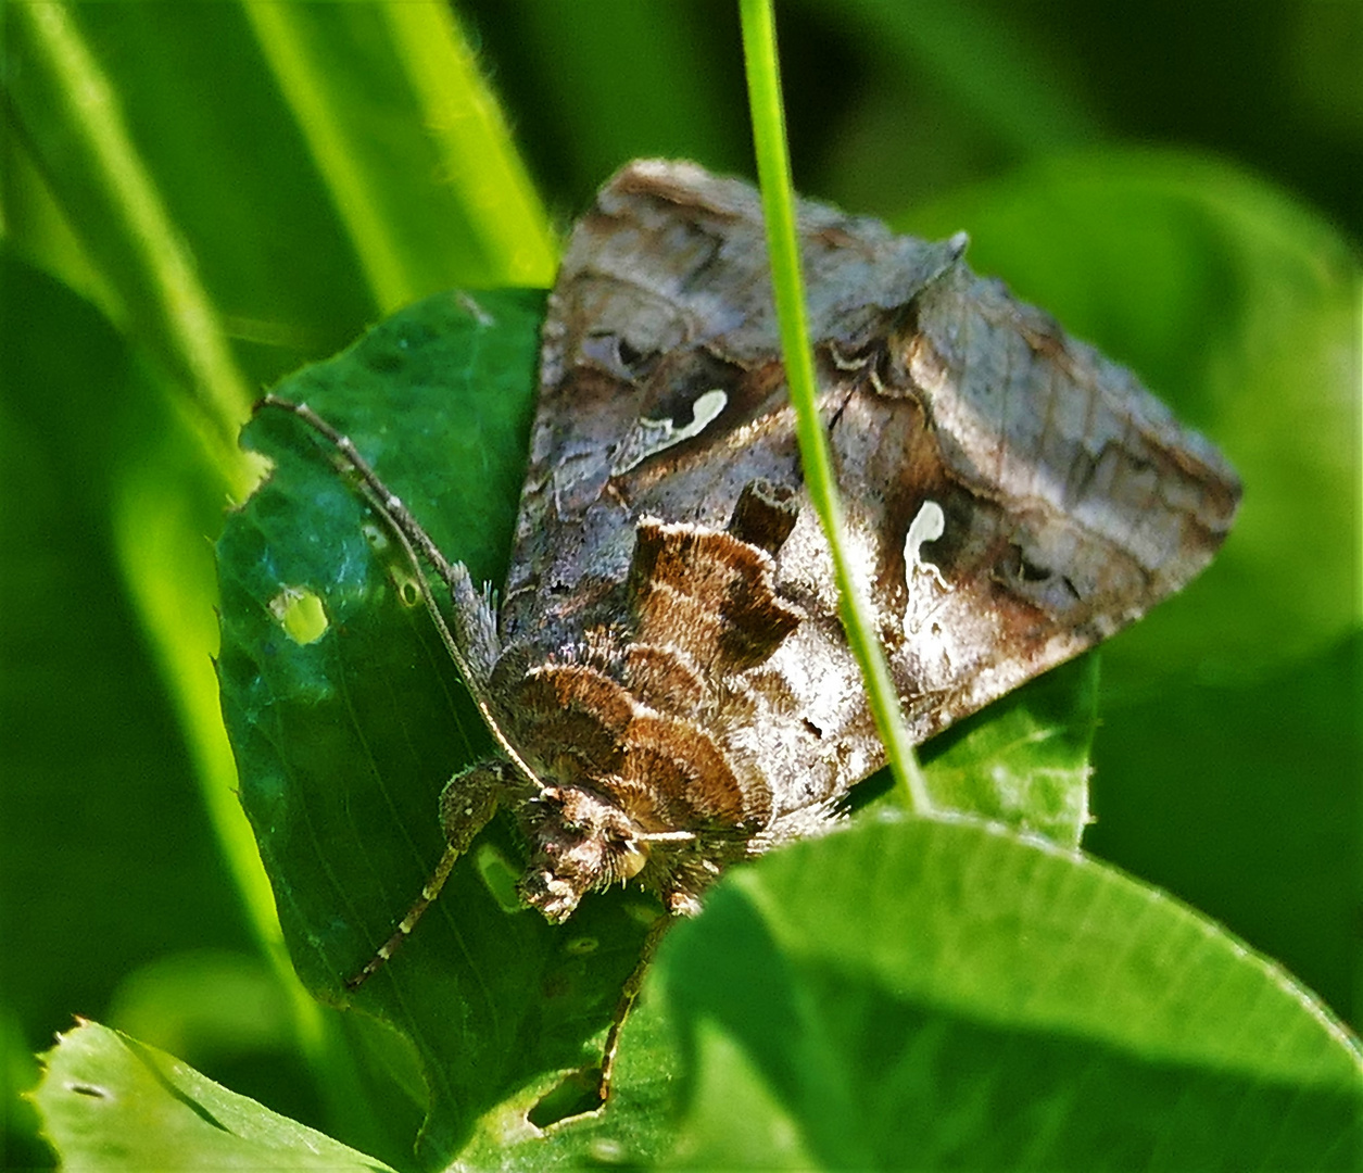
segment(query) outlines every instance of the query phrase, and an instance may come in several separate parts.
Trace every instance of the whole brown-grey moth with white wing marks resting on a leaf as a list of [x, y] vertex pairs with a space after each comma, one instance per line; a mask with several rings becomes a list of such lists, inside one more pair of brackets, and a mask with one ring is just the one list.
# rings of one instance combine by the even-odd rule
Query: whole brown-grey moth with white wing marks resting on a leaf
[[[1179, 590], [1235, 473], [1135, 376], [962, 260], [803, 202], [819, 409], [904, 717], [923, 741]], [[428, 606], [500, 748], [440, 800], [448, 847], [397, 948], [499, 809], [559, 922], [634, 880], [694, 913], [722, 869], [816, 835], [883, 764], [803, 488], [761, 204], [634, 162], [572, 230], [500, 606], [350, 441], [448, 591]]]

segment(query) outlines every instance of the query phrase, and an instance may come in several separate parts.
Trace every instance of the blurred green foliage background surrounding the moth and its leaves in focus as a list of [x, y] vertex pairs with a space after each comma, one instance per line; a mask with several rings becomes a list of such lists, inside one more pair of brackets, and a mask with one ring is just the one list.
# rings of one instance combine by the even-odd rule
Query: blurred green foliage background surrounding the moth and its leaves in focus
[[[330, 1127], [214, 729], [251, 399], [425, 293], [547, 282], [628, 158], [751, 173], [728, 0], [448, 12], [0, 10], [3, 1163], [48, 1159], [12, 1093], [74, 1014]], [[1105, 654], [1086, 846], [1358, 1023], [1363, 5], [777, 15], [801, 192], [970, 230], [1239, 465], [1242, 606]]]

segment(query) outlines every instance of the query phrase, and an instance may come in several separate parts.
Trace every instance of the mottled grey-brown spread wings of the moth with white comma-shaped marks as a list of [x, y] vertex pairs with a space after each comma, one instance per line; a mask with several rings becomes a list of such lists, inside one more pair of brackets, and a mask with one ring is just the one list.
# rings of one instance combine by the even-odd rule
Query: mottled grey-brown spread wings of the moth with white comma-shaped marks
[[[970, 274], [964, 237], [812, 203], [800, 230], [846, 539], [916, 740], [1210, 560], [1234, 473], [1129, 372]], [[502, 636], [517, 665], [609, 644], [601, 670], [637, 703], [687, 698], [725, 779], [770, 794], [765, 826], [737, 824], [752, 850], [816, 831], [883, 760], [801, 485], [756, 192], [632, 163], [578, 223], [551, 298]], [[784, 520], [747, 531], [746, 503], [771, 495]], [[656, 519], [770, 556], [771, 598], [746, 610], [722, 579], [654, 561]], [[647, 606], [654, 576], [691, 583], [684, 606]], [[630, 668], [643, 648], [664, 666]]]

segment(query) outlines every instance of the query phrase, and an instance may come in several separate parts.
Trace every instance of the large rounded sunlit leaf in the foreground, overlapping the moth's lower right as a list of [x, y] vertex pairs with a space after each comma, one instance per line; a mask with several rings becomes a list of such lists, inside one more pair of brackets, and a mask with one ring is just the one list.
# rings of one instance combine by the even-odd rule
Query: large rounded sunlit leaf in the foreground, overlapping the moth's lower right
[[[628, 1046], [660, 1023], [661, 1094]], [[732, 871], [664, 941], [624, 1042], [613, 1120], [502, 1159], [647, 1163], [649, 1116], [679, 1121], [686, 1168], [770, 1146], [774, 1168], [1347, 1170], [1363, 1143], [1363, 1052], [1278, 967], [973, 822], [863, 824]]]

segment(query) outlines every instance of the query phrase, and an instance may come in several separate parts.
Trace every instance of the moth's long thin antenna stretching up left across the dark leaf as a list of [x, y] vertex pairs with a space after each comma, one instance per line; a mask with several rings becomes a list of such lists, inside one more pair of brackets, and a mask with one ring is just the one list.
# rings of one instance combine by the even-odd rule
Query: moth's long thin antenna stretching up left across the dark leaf
[[[279, 395], [266, 394], [256, 403], [256, 409], [259, 410], [260, 407], [275, 407], [300, 418], [313, 432], [330, 441], [345, 462], [358, 474], [365, 497], [393, 531], [408, 560], [412, 563], [412, 568], [416, 571], [421, 601], [435, 621], [440, 642], [469, 685], [469, 692], [473, 696], [478, 715], [483, 718], [483, 723], [487, 725], [492, 738], [511, 760], [517, 771], [529, 782], [540, 786], [540, 779], [526, 764], [517, 748], [507, 740], [487, 702], [487, 680], [497, 655], [496, 621], [488, 602], [491, 594], [484, 589], [484, 595], [478, 595], [473, 587], [473, 579], [469, 576], [468, 567], [463, 563], [451, 563], [440, 552], [440, 548], [431, 539], [421, 522], [402, 503], [402, 499], [383, 482], [369, 462], [360, 455], [360, 451], [354, 447], [354, 441], [349, 436], [333, 428], [331, 424], [307, 403], [296, 403]], [[454, 631], [446, 623], [440, 605], [431, 591], [431, 583], [421, 569], [423, 559], [435, 569], [450, 590], [450, 599], [454, 604]], [[453, 866], [453, 862], [450, 866]], [[444, 880], [442, 879], [440, 883], [443, 884]], [[417, 916], [420, 917], [420, 913]]]

